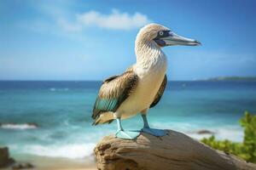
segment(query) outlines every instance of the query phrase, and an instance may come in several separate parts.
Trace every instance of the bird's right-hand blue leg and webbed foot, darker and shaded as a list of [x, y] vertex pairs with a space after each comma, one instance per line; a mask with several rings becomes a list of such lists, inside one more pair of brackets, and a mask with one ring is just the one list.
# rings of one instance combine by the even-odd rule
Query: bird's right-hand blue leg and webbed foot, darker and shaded
[[153, 136], [166, 136], [167, 135], [166, 130], [150, 128], [149, 125], [148, 125], [147, 115], [142, 114], [142, 116], [143, 116], [143, 122], [144, 122], [144, 126], [142, 128], [143, 133], [148, 133], [148, 134], [151, 134]]

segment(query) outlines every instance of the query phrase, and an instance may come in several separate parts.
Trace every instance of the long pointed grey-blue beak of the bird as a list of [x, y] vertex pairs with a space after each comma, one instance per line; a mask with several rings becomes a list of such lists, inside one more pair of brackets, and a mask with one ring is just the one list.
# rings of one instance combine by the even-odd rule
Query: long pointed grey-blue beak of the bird
[[201, 42], [198, 42], [194, 39], [187, 37], [181, 37], [175, 34], [174, 32], [169, 32], [168, 37], [161, 38], [166, 45], [188, 45], [188, 46], [198, 46], [201, 45]]

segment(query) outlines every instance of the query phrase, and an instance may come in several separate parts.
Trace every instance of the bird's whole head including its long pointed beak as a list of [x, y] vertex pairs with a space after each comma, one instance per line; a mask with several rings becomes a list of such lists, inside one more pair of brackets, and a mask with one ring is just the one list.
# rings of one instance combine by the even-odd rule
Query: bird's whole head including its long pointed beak
[[138, 33], [137, 39], [143, 42], [155, 42], [160, 47], [172, 45], [198, 46], [201, 42], [194, 39], [178, 36], [165, 26], [158, 24], [148, 24], [144, 26]]

